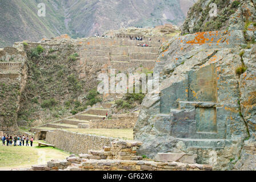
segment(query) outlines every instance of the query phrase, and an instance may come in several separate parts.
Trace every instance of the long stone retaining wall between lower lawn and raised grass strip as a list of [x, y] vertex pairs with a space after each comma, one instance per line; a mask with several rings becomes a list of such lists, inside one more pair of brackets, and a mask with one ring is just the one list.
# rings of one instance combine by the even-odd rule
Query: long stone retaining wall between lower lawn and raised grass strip
[[102, 146], [110, 146], [113, 140], [116, 139], [63, 130], [48, 131], [46, 134], [47, 143], [74, 154], [87, 154], [89, 150], [101, 150]]

